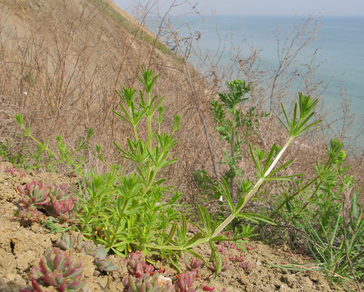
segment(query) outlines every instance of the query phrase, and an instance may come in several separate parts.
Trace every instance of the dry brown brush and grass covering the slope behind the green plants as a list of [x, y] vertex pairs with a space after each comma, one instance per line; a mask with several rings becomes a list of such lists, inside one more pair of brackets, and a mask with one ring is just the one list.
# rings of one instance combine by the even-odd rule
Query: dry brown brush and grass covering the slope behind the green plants
[[[158, 34], [150, 33], [112, 2], [55, 0], [50, 4], [47, 0], [0, 0], [0, 5], [1, 141], [9, 139], [14, 151], [22, 151], [25, 141], [17, 135], [20, 129], [12, 120], [13, 114], [20, 112], [38, 139], [54, 141], [56, 135], [62, 135], [71, 147], [78, 136], [84, 135], [85, 128], [94, 128], [96, 135], [90, 145], [101, 144], [110, 163], [123, 163], [111, 142], [125, 145], [132, 129], [112, 113], [112, 109], [119, 107], [115, 89], [140, 88], [135, 79], [138, 67], [150, 67], [160, 74], [152, 94], [165, 96], [165, 131], [171, 128], [169, 121], [173, 115], [178, 113], [182, 117], [183, 127], [176, 136], [180, 143], [174, 149], [178, 162], [165, 175], [170, 184], [186, 193], [187, 201], [197, 200], [193, 171], [203, 168], [214, 176], [214, 170], [196, 105], [205, 119], [212, 149], [219, 161], [220, 149], [227, 145], [218, 140], [214, 131], [209, 104], [221, 91], [223, 78], [217, 75], [206, 78], [190, 68], [189, 78], [194, 86], [191, 88], [183, 73], [186, 67], [179, 61], [181, 56], [171, 53], [158, 40]], [[253, 52], [250, 59], [240, 63], [242, 71], [248, 73], [253, 68], [249, 64], [254, 62], [254, 57]], [[250, 71], [248, 79], [255, 73], [259, 72]], [[281, 90], [284, 84], [277, 88]], [[262, 99], [258, 99], [260, 92], [255, 94], [255, 105], [264, 110]], [[284, 131], [272, 121], [260, 121], [256, 128], [259, 137], [252, 139], [261, 148], [282, 144], [286, 139]], [[309, 139], [297, 141], [298, 145], [285, 157], [287, 160], [299, 157], [299, 163], [288, 169], [288, 173], [310, 173], [312, 163], [324, 153], [327, 141], [321, 139], [315, 147], [305, 147], [314, 140]], [[88, 155], [85, 167], [102, 172], [104, 165], [91, 153]], [[246, 155], [241, 167], [246, 176], [253, 177], [249, 161]], [[356, 163], [355, 171], [360, 175], [361, 161]], [[129, 165], [124, 167], [128, 169]], [[220, 172], [223, 171], [226, 169], [221, 168]]]

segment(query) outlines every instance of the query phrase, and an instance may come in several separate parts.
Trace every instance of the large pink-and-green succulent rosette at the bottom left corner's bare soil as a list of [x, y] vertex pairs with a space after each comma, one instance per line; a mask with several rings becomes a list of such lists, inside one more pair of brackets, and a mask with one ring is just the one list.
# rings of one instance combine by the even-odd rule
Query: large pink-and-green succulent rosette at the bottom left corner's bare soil
[[63, 292], [76, 291], [85, 284], [82, 279], [82, 263], [73, 261], [73, 252], [61, 251], [58, 248], [49, 247], [40, 259], [40, 268], [31, 269], [32, 279], [44, 281], [47, 285], [54, 286]]

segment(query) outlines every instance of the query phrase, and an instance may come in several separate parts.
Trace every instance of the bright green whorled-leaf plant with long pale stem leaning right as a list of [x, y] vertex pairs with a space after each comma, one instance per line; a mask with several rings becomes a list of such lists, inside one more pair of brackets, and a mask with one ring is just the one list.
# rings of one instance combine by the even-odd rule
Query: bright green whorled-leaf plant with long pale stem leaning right
[[[313, 109], [316, 107], [317, 100], [300, 93], [292, 121], [289, 120], [282, 105], [287, 120], [285, 127], [289, 133], [289, 139], [284, 147], [278, 148], [274, 144], [272, 149], [266, 153], [259, 149], [253, 150], [250, 145], [250, 153], [257, 168], [255, 184], [250, 181], [241, 181], [241, 196], [235, 205], [230, 193], [229, 180], [226, 181], [222, 178], [221, 183], [218, 182], [213, 188], [217, 195], [222, 196], [225, 200], [230, 215], [217, 225], [211, 220], [206, 208], [196, 203], [202, 226], [190, 222], [200, 232], [187, 235], [187, 220], [183, 214], [176, 211], [182, 194], [173, 186], [163, 185], [165, 179], [159, 177], [163, 168], [176, 161], [175, 158], [171, 157], [171, 149], [177, 144], [173, 134], [181, 127], [180, 118], [174, 117], [169, 133], [162, 132], [161, 124], [164, 116], [161, 106], [163, 97], [158, 99], [157, 95], [151, 95], [153, 84], [158, 79], [158, 75], [154, 75], [152, 70], [141, 69], [141, 76], [137, 75], [137, 79], [141, 82], [143, 91], [139, 91], [139, 95], [134, 88], [123, 88], [118, 91], [122, 102], [119, 104], [120, 112], [115, 111], [115, 115], [130, 124], [134, 130], [134, 137], [127, 139], [126, 149], [114, 143], [120, 151], [119, 155], [131, 162], [132, 169], [129, 173], [123, 173], [117, 165], [108, 164], [104, 160], [101, 145], [95, 147], [96, 156], [106, 163], [110, 171], [101, 175], [92, 171], [84, 171], [82, 169], [84, 160], [76, 159], [75, 151], [70, 151], [62, 142], [61, 137], [58, 137], [58, 152], [53, 152], [48, 148], [48, 142], [42, 143], [32, 137], [30, 128], [24, 127], [23, 119], [17, 115], [17, 121], [24, 129], [25, 135], [34, 139], [44, 151], [50, 153], [49, 165], [66, 163], [69, 166], [73, 165], [76, 173], [84, 174], [83, 182], [78, 189], [73, 191], [73, 195], [79, 200], [78, 213], [75, 213], [78, 218], [75, 220], [75, 224], [68, 228], [59, 227], [50, 220], [46, 224], [52, 231], [79, 229], [84, 236], [90, 238], [94, 243], [104, 244], [107, 252], [112, 250], [122, 257], [126, 257], [128, 253], [136, 250], [141, 250], [143, 255], [149, 258], [151, 256], [162, 257], [170, 261], [180, 273], [182, 273], [182, 269], [179, 267], [179, 258], [183, 253], [189, 253], [208, 265], [201, 255], [192, 250], [195, 245], [208, 243], [211, 249], [209, 261], [214, 263], [214, 276], [217, 276], [226, 267], [222, 264], [221, 255], [215, 242], [229, 241], [244, 250], [241, 246], [242, 243], [246, 242], [244, 238], [252, 236], [253, 229], [249, 225], [242, 228], [241, 231], [236, 228], [233, 238], [228, 239], [223, 236], [221, 232], [232, 220], [243, 218], [255, 223], [258, 221], [272, 223], [269, 217], [242, 213], [241, 210], [263, 183], [273, 180], [285, 181], [294, 176], [278, 175], [279, 171], [292, 163], [293, 160], [277, 168], [276, 164], [294, 137], [309, 131], [319, 122], [309, 123], [314, 114]], [[242, 85], [246, 87], [245, 84], [236, 81], [232, 86], [235, 90]], [[241, 97], [242, 95], [239, 93], [237, 96]], [[226, 103], [230, 104], [227, 97]], [[157, 113], [158, 116], [155, 117]], [[233, 116], [237, 117], [236, 112]], [[153, 120], [157, 123], [155, 127], [152, 125]], [[144, 135], [141, 123], [147, 125], [146, 135]], [[156, 131], [153, 131], [153, 128]], [[234, 132], [232, 135], [236, 135], [232, 125], [229, 126], [229, 129]], [[92, 130], [89, 130], [86, 140], [82, 142], [80, 139], [78, 150], [90, 149], [86, 141], [91, 135]], [[232, 141], [237, 140], [232, 139]], [[150, 258], [150, 260], [153, 259]], [[186, 274], [185, 276], [187, 277]], [[137, 285], [133, 279], [130, 280], [130, 283]], [[154, 283], [154, 280], [152, 281]], [[142, 285], [143, 283], [142, 280], [142, 283], [139, 284]], [[150, 284], [153, 286], [152, 283]], [[182, 287], [180, 288], [183, 291]]]

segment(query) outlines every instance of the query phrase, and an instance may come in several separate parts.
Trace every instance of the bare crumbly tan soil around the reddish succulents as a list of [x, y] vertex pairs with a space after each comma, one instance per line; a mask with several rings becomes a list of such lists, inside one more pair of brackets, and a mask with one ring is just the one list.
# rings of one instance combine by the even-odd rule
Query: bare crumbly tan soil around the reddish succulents
[[[40, 258], [48, 247], [51, 245], [57, 247], [56, 239], [60, 233], [48, 233], [41, 223], [33, 223], [30, 226], [20, 224], [20, 220], [13, 216], [21, 198], [16, 187], [30, 183], [32, 180], [43, 181], [44, 184], [64, 183], [72, 187], [76, 181], [58, 173], [27, 172], [24, 177], [20, 177], [17, 173], [14, 175], [5, 173], [4, 169], [7, 166], [11, 164], [1, 162], [0, 210], [4, 211], [1, 212], [3, 214], [0, 217], [0, 291], [17, 292], [19, 289], [31, 289], [30, 269], [39, 267]], [[334, 291], [321, 272], [304, 269], [297, 272], [272, 267], [286, 262], [307, 264], [304, 262], [304, 256], [297, 255], [294, 251], [284, 251], [283, 247], [269, 246], [253, 240], [249, 240], [248, 245], [250, 247], [248, 252], [241, 254], [236, 249], [229, 249], [226, 254], [222, 254], [223, 262], [230, 265], [230, 268], [226, 271], [226, 277], [218, 276], [217, 279], [207, 281], [209, 286], [215, 287], [214, 292], [220, 292], [224, 288], [226, 292]], [[203, 255], [206, 260], [209, 259], [208, 244], [197, 246], [194, 250]], [[232, 255], [237, 257], [244, 255], [245, 260], [253, 263], [254, 268], [246, 271], [238, 267], [237, 262], [229, 260]], [[119, 271], [110, 272], [110, 285], [107, 285], [107, 275], [101, 273], [97, 277], [93, 276], [95, 266], [92, 264], [91, 256], [75, 253], [74, 258], [82, 261], [83, 275], [86, 279], [86, 284], [81, 289], [83, 292], [123, 291], [122, 279], [126, 276], [126, 267], [120, 262], [119, 257], [110, 256], [114, 265], [120, 267]], [[158, 261], [155, 267], [169, 269], [172, 275], [178, 273], [163, 261]], [[194, 285], [198, 286], [209, 274], [210, 271], [206, 267], [199, 270], [200, 279], [197, 279]], [[45, 290], [56, 291], [52, 287], [45, 287]]]

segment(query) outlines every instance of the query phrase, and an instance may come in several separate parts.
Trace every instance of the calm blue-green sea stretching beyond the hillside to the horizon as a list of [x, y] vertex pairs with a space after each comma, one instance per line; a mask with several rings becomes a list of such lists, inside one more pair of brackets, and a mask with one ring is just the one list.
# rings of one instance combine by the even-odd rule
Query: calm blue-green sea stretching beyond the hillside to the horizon
[[[197, 29], [201, 35], [198, 46], [201, 52], [222, 52], [221, 44], [226, 40], [219, 65], [229, 64], [236, 56], [236, 49], [246, 40], [251, 46], [260, 51], [260, 58], [269, 68], [278, 67], [277, 41], [273, 31], [281, 33], [281, 41], [285, 39], [288, 31], [293, 29], [293, 23], [299, 23], [298, 16], [232, 16], [213, 15], [205, 21], [199, 16], [188, 15], [182, 17], [176, 25], [180, 34], [190, 29]], [[361, 131], [363, 127], [364, 110], [364, 16], [321, 16], [318, 19], [320, 28], [317, 39], [306, 47], [301, 55], [300, 62], [306, 63], [307, 57], [316, 52], [316, 75], [328, 84], [319, 98], [323, 100], [325, 108], [330, 111], [340, 108], [340, 86], [349, 101], [350, 111], [356, 114], [356, 123], [352, 129], [353, 134]], [[301, 19], [305, 19], [301, 16]], [[186, 23], [188, 23], [188, 27]], [[187, 34], [186, 34], [187, 35]], [[230, 52], [230, 47], [235, 51]], [[248, 52], [247, 52], [248, 51]], [[242, 56], [247, 56], [249, 49], [242, 46]], [[245, 55], [244, 55], [245, 54]], [[198, 55], [198, 54], [197, 54]], [[199, 56], [191, 56], [190, 62], [196, 63]], [[195, 59], [194, 59], [195, 58]], [[298, 68], [300, 69], [300, 68]], [[234, 75], [233, 78], [244, 77]], [[296, 84], [294, 91], [302, 91], [302, 84]], [[328, 119], [340, 120], [343, 111], [337, 110]], [[364, 145], [364, 135], [359, 139]]]

